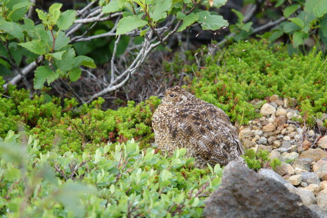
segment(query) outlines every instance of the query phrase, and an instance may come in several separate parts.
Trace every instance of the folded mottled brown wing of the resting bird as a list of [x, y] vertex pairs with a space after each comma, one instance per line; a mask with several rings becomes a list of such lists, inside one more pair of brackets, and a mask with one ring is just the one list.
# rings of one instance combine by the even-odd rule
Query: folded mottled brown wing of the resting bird
[[[228, 116], [219, 108], [208, 104], [184, 107], [178, 114], [171, 134], [182, 132], [197, 146], [197, 156], [212, 165], [225, 165], [230, 159], [243, 154], [242, 144], [236, 131], [230, 124]], [[221, 116], [221, 110], [225, 116]], [[227, 119], [226, 119], [227, 117]], [[173, 135], [172, 135], [173, 136]]]

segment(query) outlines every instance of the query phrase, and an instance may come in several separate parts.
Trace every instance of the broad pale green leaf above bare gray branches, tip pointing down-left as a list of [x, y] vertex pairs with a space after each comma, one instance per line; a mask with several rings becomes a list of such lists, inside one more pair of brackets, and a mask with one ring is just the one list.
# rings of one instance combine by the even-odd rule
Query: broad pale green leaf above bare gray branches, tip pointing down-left
[[123, 17], [118, 22], [116, 35], [128, 33], [132, 30], [135, 30], [136, 28], [145, 26], [147, 23], [148, 23], [147, 21], [142, 20], [136, 15]]

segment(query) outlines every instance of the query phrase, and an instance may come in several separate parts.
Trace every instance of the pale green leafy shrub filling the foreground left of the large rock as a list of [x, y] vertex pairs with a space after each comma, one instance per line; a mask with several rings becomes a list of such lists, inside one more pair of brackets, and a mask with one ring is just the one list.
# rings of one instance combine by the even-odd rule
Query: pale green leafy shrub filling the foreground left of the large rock
[[220, 183], [219, 164], [193, 168], [185, 149], [167, 158], [130, 140], [92, 155], [42, 154], [37, 139], [21, 145], [18, 137], [0, 138], [0, 213], [8, 217], [200, 217]]

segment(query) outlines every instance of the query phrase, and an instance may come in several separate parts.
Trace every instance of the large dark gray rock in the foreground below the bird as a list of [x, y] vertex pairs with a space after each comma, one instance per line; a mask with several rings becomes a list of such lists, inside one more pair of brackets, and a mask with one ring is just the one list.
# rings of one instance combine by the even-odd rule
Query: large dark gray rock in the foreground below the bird
[[206, 217], [319, 217], [273, 179], [231, 161], [220, 187], [205, 201]]

